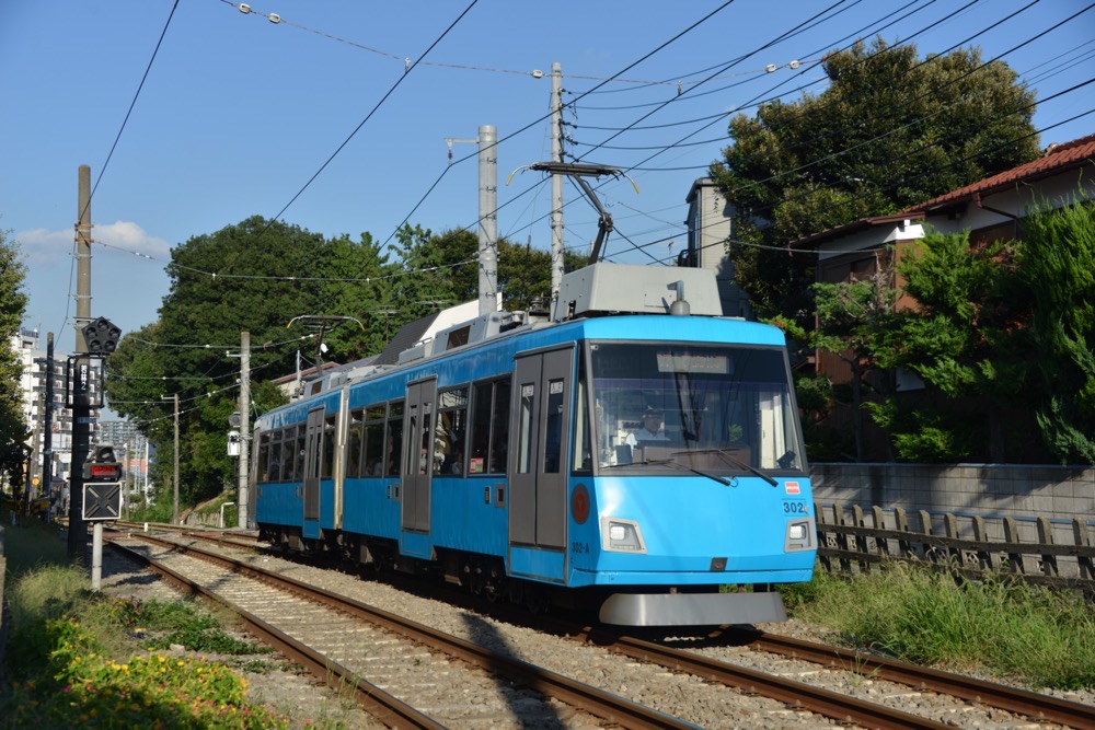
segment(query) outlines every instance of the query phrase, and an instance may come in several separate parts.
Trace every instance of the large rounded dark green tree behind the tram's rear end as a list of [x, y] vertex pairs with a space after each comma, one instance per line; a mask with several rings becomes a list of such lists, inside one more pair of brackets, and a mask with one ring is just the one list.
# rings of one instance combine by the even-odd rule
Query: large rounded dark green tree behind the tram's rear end
[[[172, 251], [160, 318], [123, 338], [110, 358], [105, 385], [111, 405], [138, 419], [160, 454], [153, 471], [158, 485], [171, 484], [172, 459], [164, 455], [174, 448], [173, 403], [164, 397], [176, 393], [181, 500], [195, 503], [235, 483], [226, 434], [240, 371], [239, 358], [229, 354], [239, 352], [240, 333], [251, 334], [253, 381], [292, 372], [297, 350], [311, 352], [315, 343], [309, 331], [287, 328], [289, 322], [333, 314], [327, 306], [351, 301], [357, 290], [341, 280], [346, 267], [364, 266], [374, 252], [371, 240], [332, 242], [261, 217], [194, 236]], [[359, 270], [369, 269], [354, 268], [355, 278]], [[274, 405], [254, 398], [256, 410]]]

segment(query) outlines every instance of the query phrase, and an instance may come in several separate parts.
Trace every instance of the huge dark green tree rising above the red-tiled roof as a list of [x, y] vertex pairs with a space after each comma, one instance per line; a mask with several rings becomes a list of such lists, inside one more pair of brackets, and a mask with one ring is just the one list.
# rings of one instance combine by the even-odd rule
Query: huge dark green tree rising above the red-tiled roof
[[[829, 86], [730, 121], [711, 174], [737, 209], [728, 254], [762, 316], [809, 326], [812, 264], [787, 242], [902, 210], [1038, 155], [1034, 94], [976, 48], [920, 59], [856, 43], [825, 60]], [[765, 248], [771, 246], [773, 248]]]

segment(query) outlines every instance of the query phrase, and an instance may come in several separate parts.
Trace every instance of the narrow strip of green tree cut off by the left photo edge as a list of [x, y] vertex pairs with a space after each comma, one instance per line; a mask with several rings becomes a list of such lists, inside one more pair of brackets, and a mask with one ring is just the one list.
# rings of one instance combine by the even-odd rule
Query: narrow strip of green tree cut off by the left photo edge
[[10, 231], [0, 231], [0, 474], [13, 484], [20, 483], [26, 459], [20, 445], [27, 433], [19, 386], [23, 366], [11, 345], [26, 313], [25, 277], [19, 243]]

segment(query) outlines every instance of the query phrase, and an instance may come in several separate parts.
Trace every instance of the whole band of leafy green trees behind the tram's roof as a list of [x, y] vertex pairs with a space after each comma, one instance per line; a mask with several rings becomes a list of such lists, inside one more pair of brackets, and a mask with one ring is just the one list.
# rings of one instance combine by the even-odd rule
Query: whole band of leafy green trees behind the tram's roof
[[[226, 432], [240, 360], [228, 354], [239, 352], [241, 332], [251, 334], [252, 399], [262, 413], [284, 399], [268, 381], [295, 372], [298, 361], [312, 367], [321, 340], [325, 361], [349, 362], [380, 352], [403, 324], [476, 299], [475, 234], [405, 225], [395, 239], [389, 252], [368, 233], [325, 239], [254, 217], [173, 250], [159, 321], [126, 335], [107, 361], [111, 406], [138, 420], [161, 455], [157, 484], [172, 478], [174, 404], [165, 397], [175, 393], [182, 501], [235, 483]], [[499, 242], [507, 309], [548, 296], [549, 262], [546, 252]]]

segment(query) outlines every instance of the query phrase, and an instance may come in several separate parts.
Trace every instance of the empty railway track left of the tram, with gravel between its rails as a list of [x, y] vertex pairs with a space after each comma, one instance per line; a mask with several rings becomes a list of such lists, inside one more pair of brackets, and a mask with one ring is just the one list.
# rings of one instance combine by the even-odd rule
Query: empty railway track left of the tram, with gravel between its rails
[[[159, 551], [137, 549], [132, 543]], [[146, 534], [114, 537], [111, 544], [128, 549], [130, 556], [148, 563], [183, 590], [229, 607], [251, 630], [316, 676], [349, 684], [362, 706], [390, 727], [505, 727], [505, 718], [517, 710], [519, 718], [514, 727], [556, 727], [563, 719], [561, 709], [545, 697], [623, 728], [695, 727], [544, 668], [224, 555]], [[372, 653], [378, 648], [379, 658]], [[462, 660], [463, 667], [452, 662], [453, 658]], [[379, 679], [364, 679], [368, 676]], [[469, 700], [470, 695], [477, 699]], [[414, 697], [414, 706], [401, 696]], [[579, 718], [573, 727], [597, 725]]]

